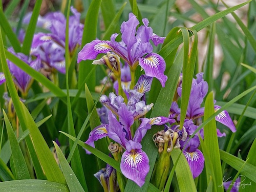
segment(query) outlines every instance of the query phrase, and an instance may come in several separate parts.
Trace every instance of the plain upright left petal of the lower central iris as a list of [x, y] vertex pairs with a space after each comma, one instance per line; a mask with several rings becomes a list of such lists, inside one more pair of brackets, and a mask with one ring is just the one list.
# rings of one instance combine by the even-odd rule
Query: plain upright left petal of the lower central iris
[[126, 133], [123, 131], [123, 126], [119, 123], [116, 117], [109, 113], [109, 126], [107, 127], [109, 138], [121, 144], [125, 148]]

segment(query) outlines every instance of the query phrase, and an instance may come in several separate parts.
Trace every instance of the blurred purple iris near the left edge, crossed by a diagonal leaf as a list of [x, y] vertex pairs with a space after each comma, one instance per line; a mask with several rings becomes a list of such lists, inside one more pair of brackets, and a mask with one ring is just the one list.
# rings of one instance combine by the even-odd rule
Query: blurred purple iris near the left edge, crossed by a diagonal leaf
[[[31, 57], [28, 57], [23, 53], [15, 53], [12, 48], [9, 48], [8, 51], [19, 59], [26, 62], [34, 70], [39, 71], [41, 69], [41, 59], [39, 56], [35, 60], [32, 60]], [[8, 59], [7, 64], [12, 74], [15, 85], [18, 87], [18, 90], [22, 92], [23, 96], [26, 97], [28, 90], [32, 84], [32, 77], [24, 72], [22, 69], [18, 68], [13, 62]], [[5, 76], [3, 73], [0, 73], [0, 84], [2, 84], [3, 82], [5, 82]]]

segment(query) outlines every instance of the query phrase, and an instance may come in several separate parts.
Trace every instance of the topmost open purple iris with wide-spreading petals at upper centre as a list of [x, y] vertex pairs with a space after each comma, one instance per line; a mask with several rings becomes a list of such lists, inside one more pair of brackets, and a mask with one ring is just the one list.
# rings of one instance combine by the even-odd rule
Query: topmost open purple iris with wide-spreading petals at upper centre
[[157, 46], [163, 43], [165, 37], [159, 37], [153, 33], [153, 29], [148, 27], [147, 18], [143, 18], [142, 22], [144, 25], [137, 29], [139, 20], [133, 13], [130, 13], [129, 20], [121, 25], [121, 43], [115, 40], [117, 33], [112, 34], [111, 40], [93, 40], [78, 53], [77, 62], [87, 59], [93, 60], [99, 53], [113, 51], [128, 63], [131, 69], [135, 70], [140, 65], [147, 76], [156, 77], [164, 87], [167, 80], [167, 76], [164, 75], [165, 61], [160, 55], [153, 53], [150, 40]]

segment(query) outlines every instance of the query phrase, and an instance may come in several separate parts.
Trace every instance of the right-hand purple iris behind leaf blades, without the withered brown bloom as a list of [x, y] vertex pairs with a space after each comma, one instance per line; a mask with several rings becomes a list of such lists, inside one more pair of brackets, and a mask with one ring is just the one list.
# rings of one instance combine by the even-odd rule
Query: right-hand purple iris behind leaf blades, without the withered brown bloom
[[[188, 133], [188, 138], [194, 134], [198, 126], [202, 123], [202, 117], [204, 115], [204, 108], [201, 107], [201, 104], [208, 92], [208, 83], [203, 79], [203, 73], [198, 73], [197, 79], [193, 78], [191, 85], [191, 92], [187, 106], [186, 118], [184, 122], [184, 127]], [[179, 86], [177, 88], [178, 96], [181, 97], [182, 93], [182, 76], [180, 77]], [[215, 105], [215, 111], [218, 111], [221, 107]], [[169, 118], [175, 119], [176, 122], [180, 121], [180, 109], [178, 103], [174, 101], [170, 108]], [[229, 114], [227, 111], [222, 111], [215, 118], [217, 121], [229, 127], [232, 132], [236, 132], [236, 127], [234, 126]], [[175, 125], [174, 125], [175, 126]], [[203, 138], [203, 129], [199, 131], [200, 136]], [[217, 129], [218, 137], [225, 136], [225, 133], [221, 133]], [[198, 136], [191, 138], [188, 143], [184, 146], [186, 141], [181, 142], [181, 148], [184, 148], [183, 153], [189, 164], [191, 173], [193, 177], [198, 177], [204, 167], [204, 156], [198, 146], [200, 144]]]

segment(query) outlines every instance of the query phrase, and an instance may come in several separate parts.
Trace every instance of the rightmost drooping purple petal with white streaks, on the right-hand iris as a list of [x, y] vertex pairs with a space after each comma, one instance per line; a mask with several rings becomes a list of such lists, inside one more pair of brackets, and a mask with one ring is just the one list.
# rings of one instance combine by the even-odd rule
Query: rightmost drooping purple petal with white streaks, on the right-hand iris
[[[215, 111], [218, 111], [219, 109], [221, 109], [221, 107], [218, 105], [215, 105], [214, 109]], [[234, 123], [226, 110], [218, 114], [215, 117], [215, 119], [216, 121], [219, 121], [220, 123], [226, 125], [233, 133], [237, 131], [236, 126], [234, 126]]]

